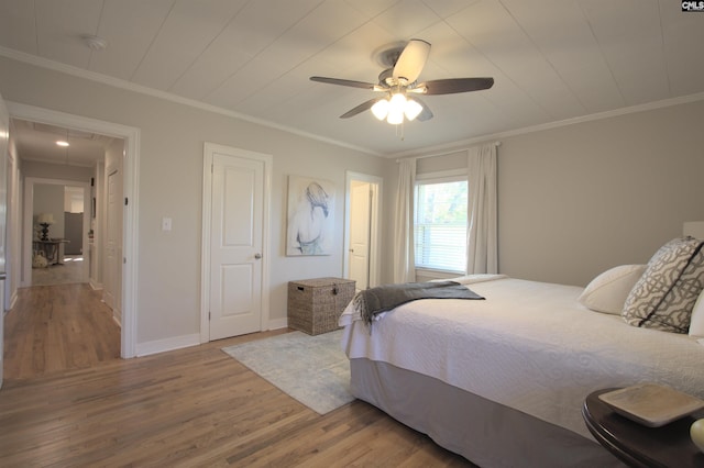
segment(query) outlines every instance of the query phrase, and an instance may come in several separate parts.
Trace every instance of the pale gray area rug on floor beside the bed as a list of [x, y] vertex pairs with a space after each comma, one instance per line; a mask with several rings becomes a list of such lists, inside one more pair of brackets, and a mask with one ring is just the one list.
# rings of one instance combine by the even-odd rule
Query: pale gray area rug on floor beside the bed
[[326, 414], [354, 400], [341, 336], [341, 330], [316, 336], [292, 332], [222, 350], [316, 413]]

